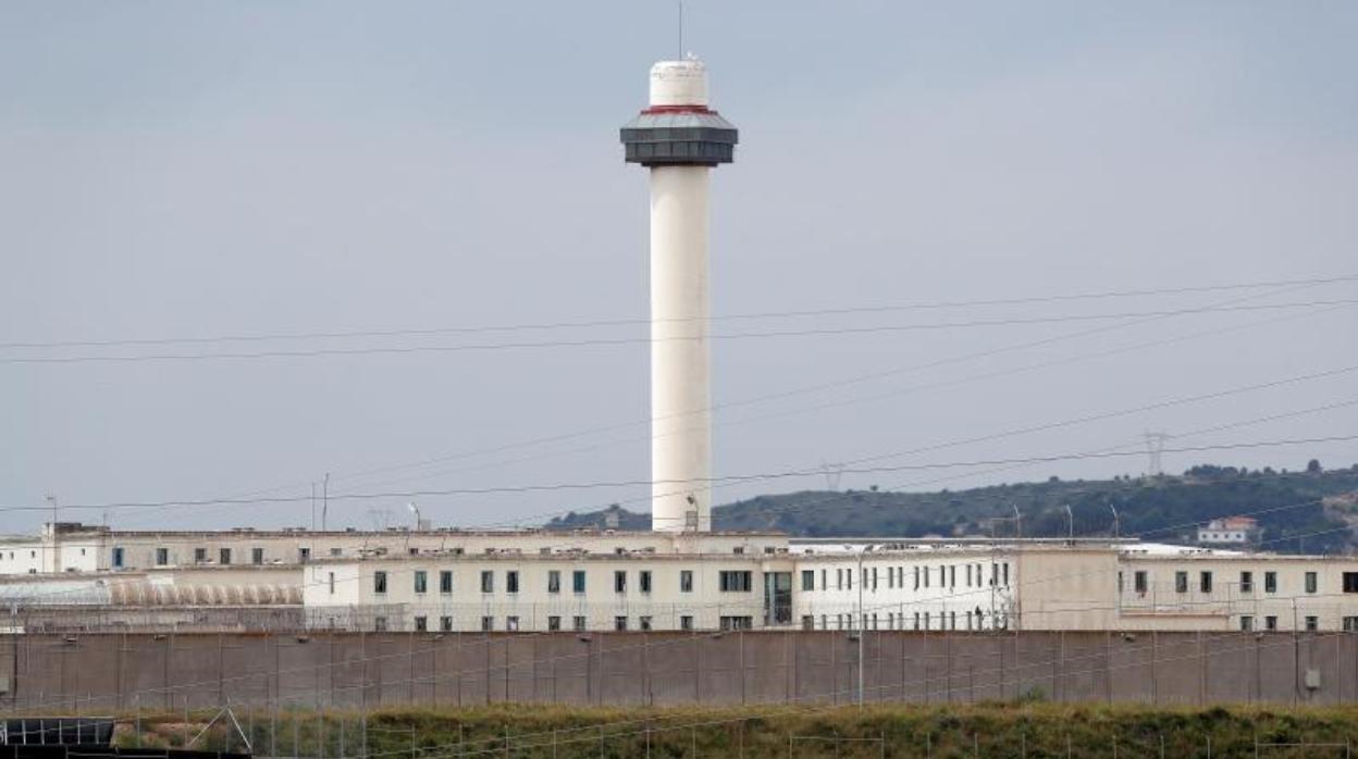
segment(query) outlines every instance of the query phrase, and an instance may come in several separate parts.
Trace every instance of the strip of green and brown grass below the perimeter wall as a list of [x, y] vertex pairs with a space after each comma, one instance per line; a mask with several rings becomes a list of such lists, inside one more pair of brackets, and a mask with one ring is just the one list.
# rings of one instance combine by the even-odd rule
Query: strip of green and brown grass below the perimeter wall
[[[121, 745], [182, 745], [213, 713], [141, 717]], [[1148, 709], [1044, 702], [974, 706], [576, 709], [505, 705], [359, 713], [238, 710], [257, 755], [432, 759], [458, 756], [1348, 756], [1358, 706]], [[219, 721], [194, 748], [236, 749]], [[1270, 744], [1300, 744], [1286, 747]], [[1317, 745], [1317, 744], [1335, 745]]]

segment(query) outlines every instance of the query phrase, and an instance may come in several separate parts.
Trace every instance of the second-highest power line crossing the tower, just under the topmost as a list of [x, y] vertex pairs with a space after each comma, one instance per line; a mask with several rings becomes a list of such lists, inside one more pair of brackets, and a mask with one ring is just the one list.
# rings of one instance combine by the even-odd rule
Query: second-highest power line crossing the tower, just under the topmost
[[409, 345], [409, 346], [368, 346], [368, 348], [320, 348], [296, 350], [258, 350], [258, 352], [220, 352], [220, 353], [128, 353], [113, 356], [30, 356], [19, 358], [0, 358], [0, 364], [132, 364], [143, 361], [217, 361], [217, 360], [258, 360], [258, 358], [315, 358], [325, 356], [399, 356], [413, 353], [460, 353], [482, 350], [528, 350], [550, 348], [595, 348], [619, 345], [649, 345], [669, 341], [727, 341], [727, 339], [769, 339], [792, 337], [822, 337], [822, 335], [851, 335], [851, 334], [880, 334], [900, 331], [928, 331], [975, 327], [1009, 327], [1009, 326], [1036, 326], [1067, 322], [1090, 322], [1109, 319], [1138, 319], [1162, 316], [1187, 316], [1196, 314], [1229, 314], [1240, 311], [1278, 311], [1290, 308], [1315, 308], [1320, 306], [1353, 306], [1358, 299], [1312, 300], [1300, 303], [1277, 303], [1256, 306], [1228, 306], [1228, 307], [1199, 307], [1173, 308], [1157, 311], [1131, 311], [1120, 314], [1080, 314], [1063, 316], [1031, 316], [1012, 319], [976, 319], [970, 322], [933, 322], [915, 325], [876, 325], [861, 327], [826, 327], [808, 330], [774, 330], [759, 333], [731, 333], [713, 335], [679, 335], [679, 337], [636, 337], [636, 338], [588, 338], [565, 341], [524, 341], [524, 342], [485, 342], [460, 345]]

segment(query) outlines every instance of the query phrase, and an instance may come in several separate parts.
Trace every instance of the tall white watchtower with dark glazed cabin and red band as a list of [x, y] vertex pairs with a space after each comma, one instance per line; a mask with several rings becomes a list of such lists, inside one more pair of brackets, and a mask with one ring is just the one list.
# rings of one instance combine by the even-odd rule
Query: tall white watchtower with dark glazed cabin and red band
[[708, 183], [735, 128], [708, 107], [697, 60], [650, 69], [650, 105], [622, 129], [627, 160], [650, 170], [650, 524], [712, 530]]

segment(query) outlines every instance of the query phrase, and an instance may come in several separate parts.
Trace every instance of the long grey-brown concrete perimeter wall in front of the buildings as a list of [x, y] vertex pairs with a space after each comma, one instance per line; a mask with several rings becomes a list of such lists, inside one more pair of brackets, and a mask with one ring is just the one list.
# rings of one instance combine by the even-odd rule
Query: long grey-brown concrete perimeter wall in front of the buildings
[[[858, 649], [828, 631], [3, 635], [0, 710], [851, 703]], [[862, 652], [868, 701], [1358, 701], [1353, 633], [870, 631]]]

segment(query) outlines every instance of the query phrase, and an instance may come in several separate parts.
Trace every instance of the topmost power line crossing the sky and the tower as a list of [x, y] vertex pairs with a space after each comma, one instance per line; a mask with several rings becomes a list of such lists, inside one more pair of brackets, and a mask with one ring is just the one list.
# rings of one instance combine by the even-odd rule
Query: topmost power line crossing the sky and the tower
[[[1146, 297], [1158, 295], [1188, 295], [1188, 293], [1205, 293], [1205, 292], [1278, 288], [1290, 285], [1325, 285], [1325, 284], [1351, 282], [1351, 281], [1358, 281], [1358, 274], [1347, 274], [1338, 277], [1315, 277], [1315, 278], [1301, 278], [1301, 280], [1234, 282], [1225, 285], [1199, 285], [1199, 286], [1186, 286], [1186, 288], [1103, 291], [1103, 292], [1085, 292], [1085, 293], [1070, 293], [1070, 295], [1024, 296], [1024, 297], [982, 299], [982, 300], [942, 300], [942, 301], [845, 307], [845, 308], [760, 311], [748, 314], [728, 314], [728, 315], [709, 316], [706, 320], [722, 322], [722, 320], [744, 320], [744, 319], [839, 316], [839, 315], [853, 315], [853, 314], [883, 314], [883, 312], [923, 311], [923, 310], [942, 310], [942, 308], [1028, 306], [1039, 303], [1063, 303], [1063, 301], [1118, 299], [1118, 297]], [[701, 318], [664, 319], [664, 322], [693, 322], [693, 320], [703, 320], [703, 319]], [[576, 322], [570, 320], [540, 322], [540, 323], [521, 323], [521, 325], [483, 325], [483, 326], [470, 326], [470, 327], [413, 327], [413, 329], [397, 329], [397, 330], [257, 333], [257, 334], [225, 334], [225, 335], [205, 335], [205, 337], [14, 341], [14, 342], [0, 342], [0, 349], [117, 348], [117, 346], [133, 346], [133, 345], [204, 345], [204, 344], [217, 344], [217, 342], [265, 342], [265, 341], [289, 341], [289, 339], [352, 339], [352, 338], [373, 338], [373, 337], [420, 337], [420, 335], [437, 335], [437, 334], [477, 334], [477, 333], [505, 333], [505, 331], [531, 331], [531, 330], [593, 329], [593, 327], [636, 326], [636, 325], [649, 325], [649, 323], [652, 323], [650, 319], [631, 318], [631, 319], [595, 319], [595, 320], [576, 320]]]

